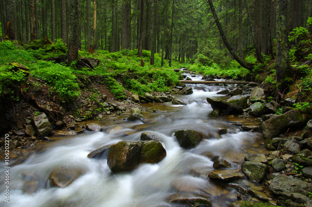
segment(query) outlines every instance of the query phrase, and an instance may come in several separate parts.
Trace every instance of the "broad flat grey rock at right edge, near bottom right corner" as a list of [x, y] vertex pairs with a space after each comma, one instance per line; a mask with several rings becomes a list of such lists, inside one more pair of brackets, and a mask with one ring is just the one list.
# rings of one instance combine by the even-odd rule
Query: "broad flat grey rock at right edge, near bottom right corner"
[[312, 184], [307, 183], [298, 179], [291, 178], [286, 175], [278, 175], [271, 180], [270, 191], [275, 194], [280, 194], [282, 192], [294, 192], [296, 190], [311, 188]]

